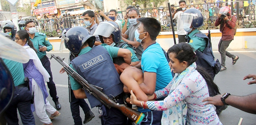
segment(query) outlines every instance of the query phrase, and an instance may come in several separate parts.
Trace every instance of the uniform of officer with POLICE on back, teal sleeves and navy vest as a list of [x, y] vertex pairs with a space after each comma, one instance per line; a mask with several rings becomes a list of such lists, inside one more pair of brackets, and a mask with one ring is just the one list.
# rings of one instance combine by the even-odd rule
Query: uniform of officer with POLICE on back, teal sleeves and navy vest
[[[71, 61], [72, 67], [79, 75], [87, 80], [91, 85], [103, 88], [103, 93], [110, 98], [114, 98], [119, 104], [123, 101], [123, 83], [120, 82], [119, 75], [115, 69], [112, 57], [117, 57], [118, 49], [106, 44], [93, 48], [85, 47], [81, 50], [78, 57]], [[103, 73], [103, 74], [102, 74]], [[81, 88], [81, 85], [70, 77], [73, 90]], [[93, 95], [85, 91], [91, 108], [99, 106], [102, 110], [102, 125], [124, 125], [127, 117], [118, 109], [108, 109], [100, 103]]]

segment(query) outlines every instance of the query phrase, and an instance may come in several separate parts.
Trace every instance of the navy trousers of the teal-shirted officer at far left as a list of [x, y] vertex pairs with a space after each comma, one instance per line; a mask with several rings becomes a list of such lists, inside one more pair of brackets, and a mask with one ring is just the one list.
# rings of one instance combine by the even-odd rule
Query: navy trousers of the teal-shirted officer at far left
[[18, 125], [17, 108], [23, 125], [35, 125], [35, 120], [30, 107], [31, 92], [27, 87], [17, 89], [15, 87], [13, 99], [5, 111], [5, 120], [8, 125]]

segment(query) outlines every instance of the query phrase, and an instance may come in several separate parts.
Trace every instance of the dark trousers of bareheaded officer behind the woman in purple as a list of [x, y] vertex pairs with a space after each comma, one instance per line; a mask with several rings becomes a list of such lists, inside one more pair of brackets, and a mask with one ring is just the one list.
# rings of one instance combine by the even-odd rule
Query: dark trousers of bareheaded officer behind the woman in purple
[[46, 59], [41, 60], [41, 62], [43, 64], [44, 68], [46, 69], [46, 71], [48, 72], [48, 74], [51, 77], [51, 78], [49, 78], [49, 82], [47, 82], [47, 86], [49, 88], [50, 96], [53, 98], [54, 102], [58, 102], [59, 97], [57, 97], [56, 86], [55, 86], [55, 83], [53, 82], [53, 75], [52, 75], [52, 71], [51, 71], [51, 63], [49, 61], [49, 58], [46, 56]]

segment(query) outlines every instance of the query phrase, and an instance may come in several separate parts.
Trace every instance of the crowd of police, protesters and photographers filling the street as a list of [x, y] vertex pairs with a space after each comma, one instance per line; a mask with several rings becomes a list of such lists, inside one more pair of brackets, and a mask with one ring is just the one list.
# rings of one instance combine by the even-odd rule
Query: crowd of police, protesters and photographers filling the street
[[[173, 19], [177, 19], [179, 44], [170, 47], [167, 53], [156, 42], [161, 23], [154, 18], [141, 18], [136, 8], [126, 8], [124, 27], [117, 20], [114, 9], [108, 16], [102, 11], [99, 14], [84, 12], [84, 24], [89, 30], [75, 26], [62, 32], [61, 41], [70, 50], [70, 68], [91, 85], [102, 88], [102, 92], [116, 103], [130, 108], [137, 106], [138, 111], [144, 114], [140, 125], [222, 125], [218, 115], [227, 105], [255, 113], [255, 94], [245, 97], [229, 93], [221, 95], [213, 82], [219, 71], [227, 69], [226, 56], [232, 58], [232, 65], [239, 59], [239, 56], [226, 51], [234, 39], [236, 25], [236, 17], [231, 15], [230, 8], [220, 6], [215, 22], [215, 26], [221, 25], [222, 32], [218, 45], [220, 63], [215, 60], [210, 39], [198, 30], [204, 25], [202, 13], [192, 5], [187, 9], [184, 0], [179, 5], [182, 9], [173, 9], [171, 14]], [[98, 16], [106, 21], [99, 22]], [[61, 108], [46, 56], [46, 51], [53, 47], [44, 33], [35, 32], [32, 20], [23, 23], [18, 32], [12, 23], [4, 27], [5, 36], [26, 49], [29, 61], [22, 64], [3, 59], [13, 77], [15, 92], [9, 107], [0, 114], [4, 116], [0, 123], [18, 124], [18, 109], [23, 124], [35, 124], [32, 113], [35, 111], [41, 122], [52, 125], [51, 120], [60, 116], [58, 110]], [[65, 69], [61, 68], [59, 72], [62, 74]], [[99, 77], [102, 73], [104, 75]], [[70, 109], [75, 125], [85, 124], [95, 117], [89, 105], [98, 107], [102, 125], [132, 124], [122, 111], [114, 107], [109, 109], [73, 77], [68, 75], [72, 89]], [[256, 79], [256, 76], [244, 77], [249, 78]], [[56, 108], [47, 100], [45, 82]], [[88, 99], [89, 105], [84, 99]], [[239, 99], [248, 104], [234, 101]], [[83, 122], [79, 106], [85, 113]]]

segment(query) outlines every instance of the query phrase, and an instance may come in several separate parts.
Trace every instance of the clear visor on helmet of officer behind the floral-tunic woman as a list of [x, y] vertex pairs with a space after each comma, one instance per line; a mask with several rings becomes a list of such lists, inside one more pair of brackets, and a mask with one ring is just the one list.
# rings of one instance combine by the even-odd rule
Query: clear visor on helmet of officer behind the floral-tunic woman
[[179, 25], [177, 27], [178, 30], [182, 30], [182, 29], [184, 29], [184, 27], [190, 27], [194, 16], [196, 16], [196, 15], [189, 14], [189, 13], [181, 13]]

